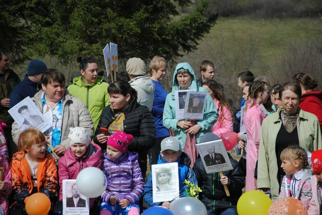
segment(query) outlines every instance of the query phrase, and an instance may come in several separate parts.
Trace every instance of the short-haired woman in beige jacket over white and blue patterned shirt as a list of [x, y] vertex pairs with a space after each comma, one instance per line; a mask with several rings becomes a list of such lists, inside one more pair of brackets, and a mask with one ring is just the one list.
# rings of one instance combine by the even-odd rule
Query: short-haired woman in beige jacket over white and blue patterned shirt
[[[48, 69], [43, 73], [43, 90], [37, 92], [32, 98], [37, 108], [43, 113], [52, 128], [44, 134], [49, 139], [58, 156], [63, 156], [69, 147], [69, 128], [83, 127], [93, 137], [94, 125], [90, 113], [83, 102], [70, 95], [65, 89], [65, 77], [62, 72], [55, 69]], [[12, 137], [18, 144], [18, 138], [22, 130], [17, 122], [12, 125]], [[48, 148], [49, 151], [51, 151]]]

